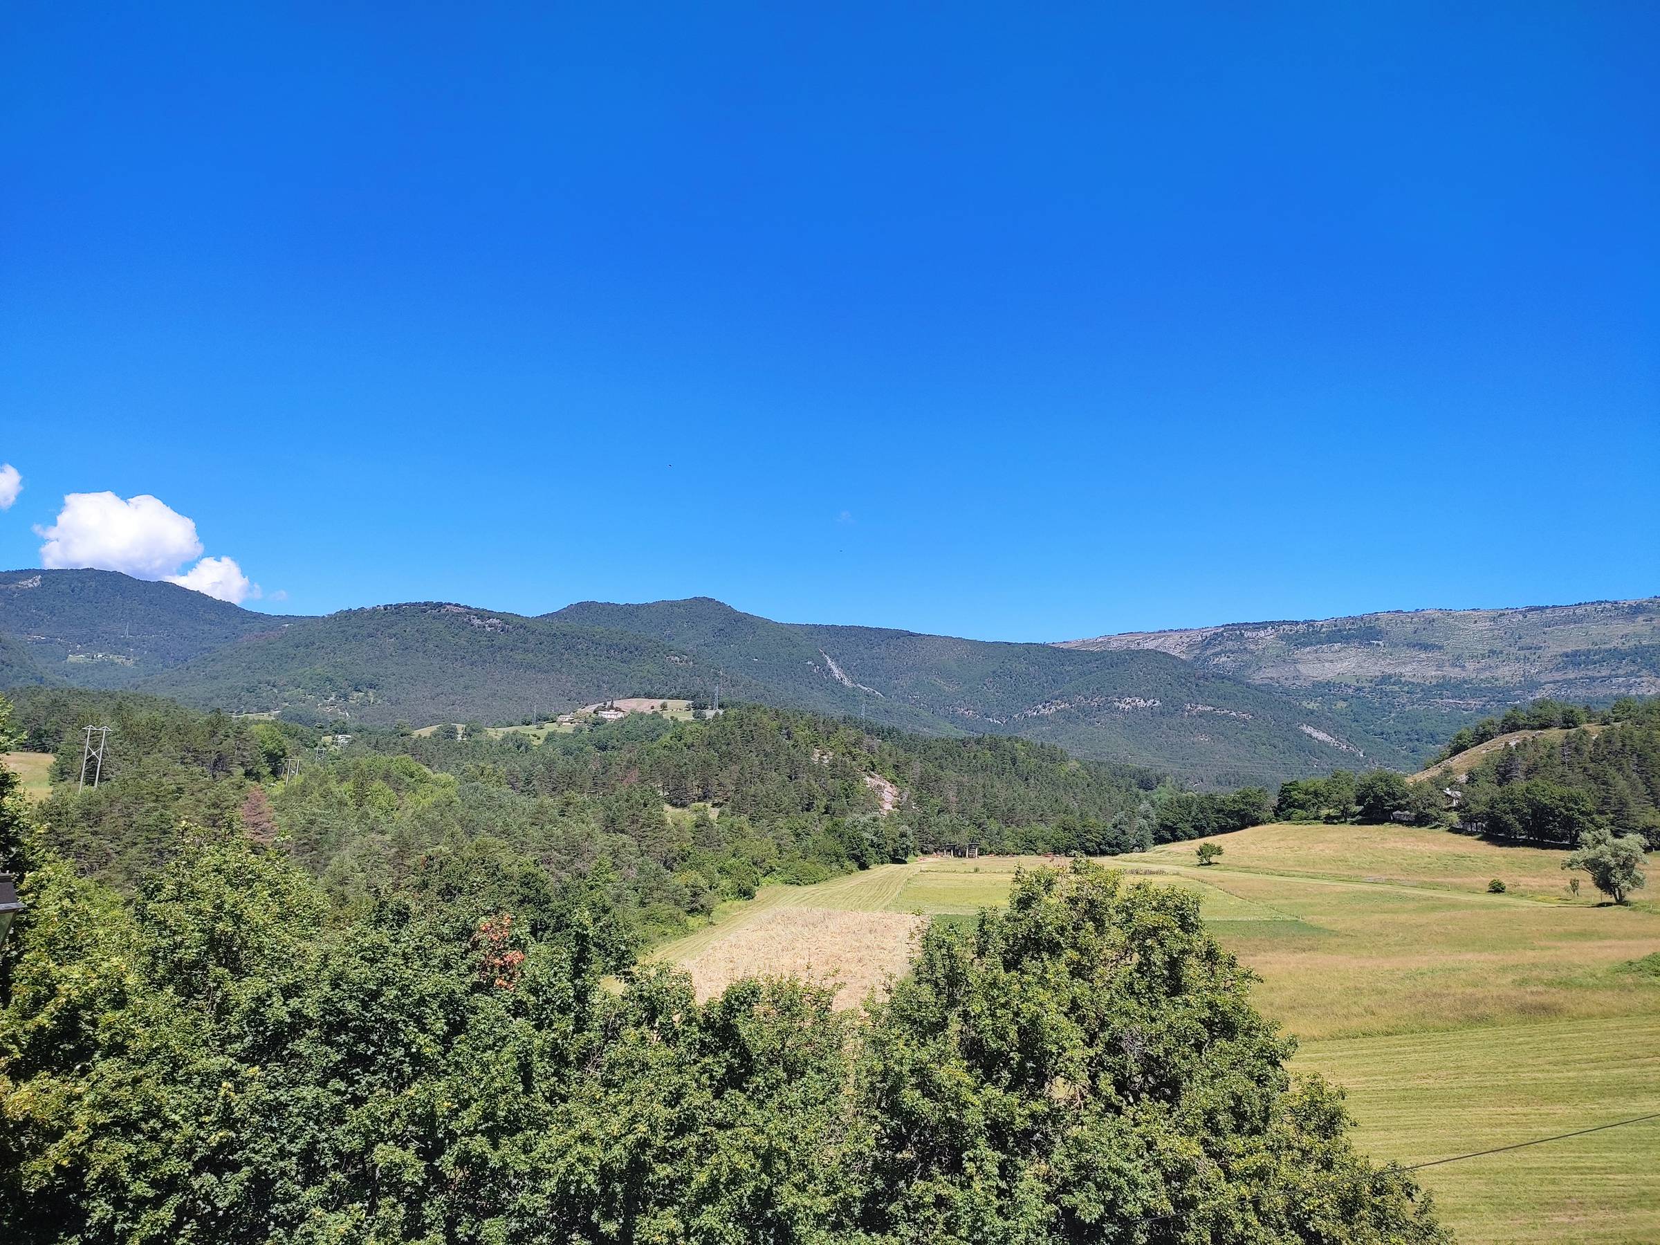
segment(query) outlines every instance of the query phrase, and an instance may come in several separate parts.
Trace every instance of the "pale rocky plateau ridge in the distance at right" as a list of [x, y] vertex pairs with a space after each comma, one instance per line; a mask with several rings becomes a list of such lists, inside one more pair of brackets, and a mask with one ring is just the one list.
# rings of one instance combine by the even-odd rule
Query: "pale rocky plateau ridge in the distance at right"
[[1459, 727], [1522, 701], [1660, 694], [1660, 598], [1230, 622], [1061, 647], [1169, 652], [1288, 691], [1428, 759]]

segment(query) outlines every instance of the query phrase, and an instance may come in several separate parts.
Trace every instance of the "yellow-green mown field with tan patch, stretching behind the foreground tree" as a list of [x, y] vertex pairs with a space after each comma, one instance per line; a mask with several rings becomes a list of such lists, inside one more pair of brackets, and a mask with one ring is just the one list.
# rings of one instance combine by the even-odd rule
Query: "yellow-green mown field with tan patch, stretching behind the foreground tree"
[[[1589, 880], [1572, 900], [1560, 852], [1444, 830], [1265, 825], [1213, 842], [1223, 855], [1205, 868], [1197, 843], [1104, 863], [1197, 891], [1215, 935], [1262, 974], [1257, 1004], [1298, 1036], [1293, 1067], [1348, 1089], [1374, 1159], [1426, 1164], [1660, 1112], [1660, 978], [1632, 968], [1660, 951], [1653, 901], [1600, 906]], [[1044, 863], [1066, 862], [921, 860], [769, 886], [659, 954], [697, 973], [732, 941], [722, 973], [788, 971], [805, 956], [822, 974], [835, 913], [973, 913], [1001, 903], [1018, 868]], [[1494, 876], [1506, 895], [1487, 893]], [[790, 926], [770, 921], [808, 910], [825, 913], [798, 930], [817, 954], [777, 951]], [[840, 930], [858, 961], [842, 974], [848, 1006], [855, 983], [903, 964], [913, 933]], [[1660, 1120], [1419, 1179], [1459, 1240], [1660, 1242]]]

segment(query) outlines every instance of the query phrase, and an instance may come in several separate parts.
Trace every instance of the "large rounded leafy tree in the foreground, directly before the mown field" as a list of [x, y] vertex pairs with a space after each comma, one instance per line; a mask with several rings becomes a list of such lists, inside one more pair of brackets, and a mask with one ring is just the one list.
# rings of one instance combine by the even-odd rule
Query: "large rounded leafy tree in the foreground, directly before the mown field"
[[880, 1242], [1444, 1240], [1343, 1140], [1197, 900], [1079, 862], [935, 923], [860, 1061]]

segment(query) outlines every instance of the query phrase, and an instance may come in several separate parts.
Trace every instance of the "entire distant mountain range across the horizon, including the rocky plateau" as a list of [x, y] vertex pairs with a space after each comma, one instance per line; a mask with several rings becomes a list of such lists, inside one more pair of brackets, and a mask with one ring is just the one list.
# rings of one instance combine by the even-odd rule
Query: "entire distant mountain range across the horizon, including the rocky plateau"
[[709, 598], [540, 618], [452, 603], [277, 618], [106, 571], [10, 571], [0, 674], [370, 725], [707, 701], [719, 682], [729, 702], [1021, 735], [1238, 787], [1335, 765], [1416, 769], [1527, 679], [1590, 699], [1660, 687], [1657, 618], [1653, 601], [1487, 611], [1486, 647], [1476, 614], [1436, 613], [1052, 646], [775, 622]]

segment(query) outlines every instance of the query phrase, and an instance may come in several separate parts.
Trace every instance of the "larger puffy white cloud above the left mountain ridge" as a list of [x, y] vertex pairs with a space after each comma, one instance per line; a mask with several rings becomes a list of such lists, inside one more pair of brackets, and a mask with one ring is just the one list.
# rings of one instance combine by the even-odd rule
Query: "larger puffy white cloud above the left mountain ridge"
[[[259, 596], [232, 558], [201, 558], [196, 523], [159, 498], [141, 493], [123, 501], [115, 493], [70, 493], [58, 521], [35, 528], [45, 538], [40, 564], [46, 569], [91, 566], [136, 579], [166, 579], [221, 601]], [[201, 558], [189, 571], [179, 566]]]

